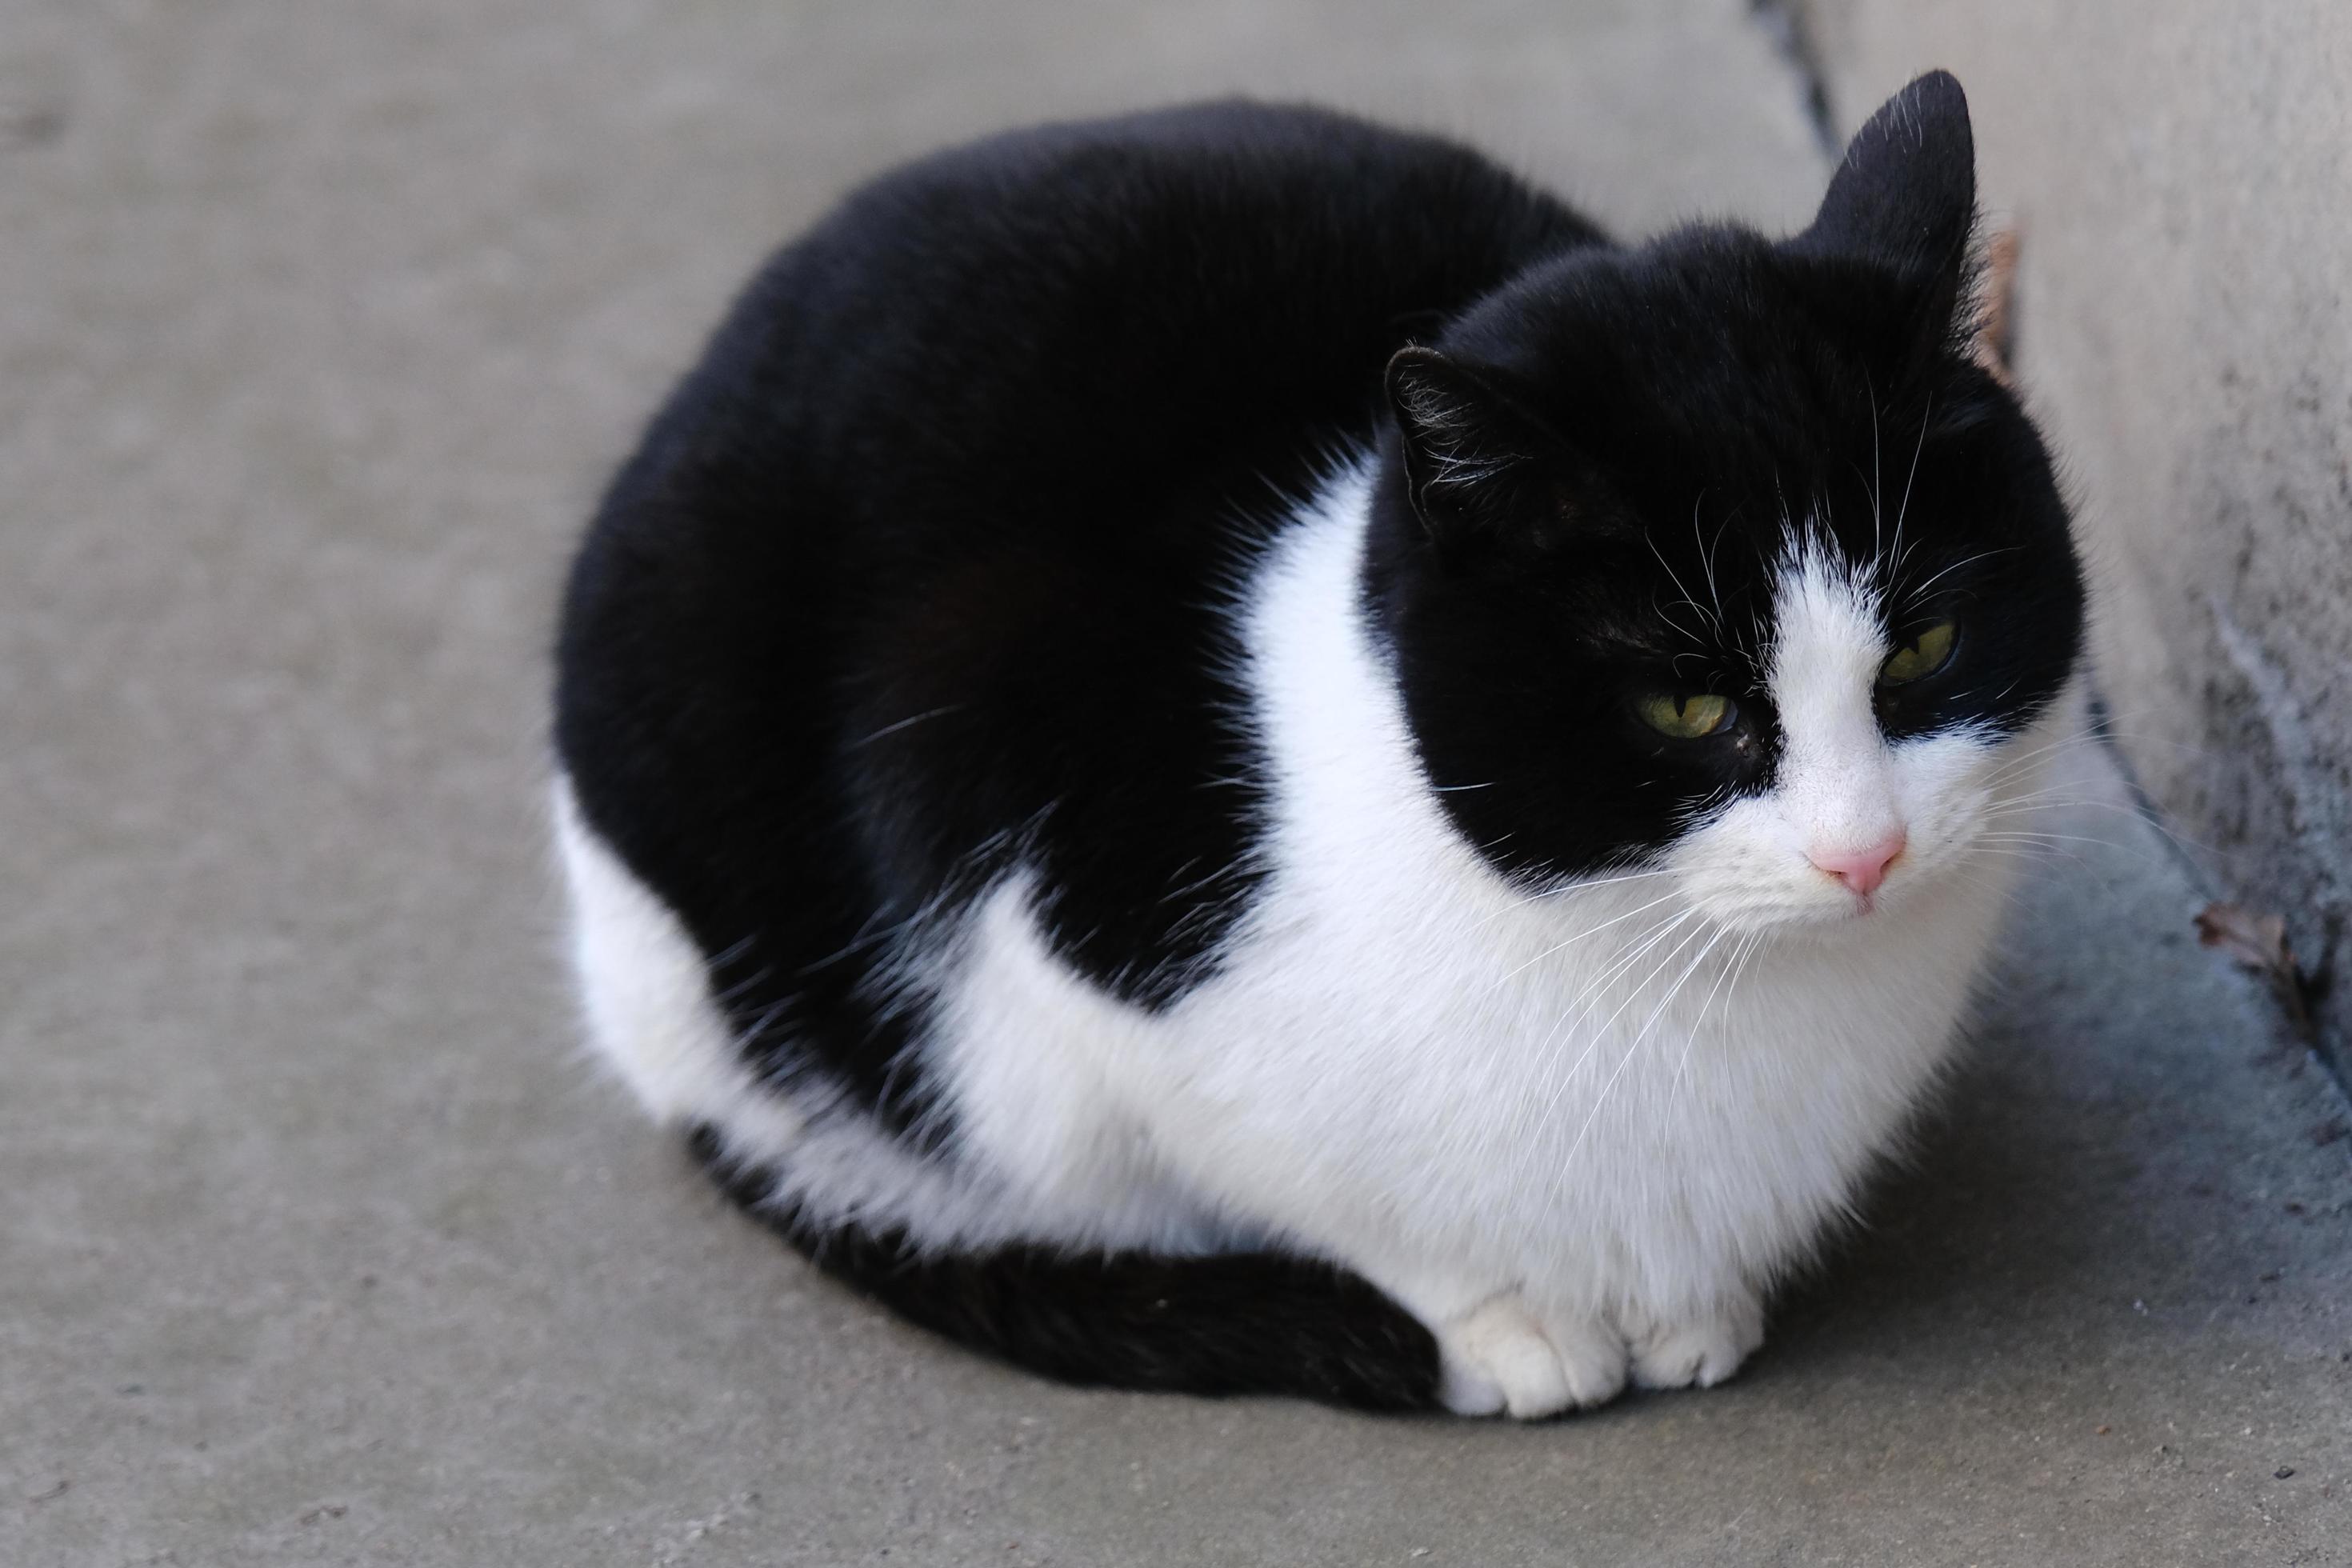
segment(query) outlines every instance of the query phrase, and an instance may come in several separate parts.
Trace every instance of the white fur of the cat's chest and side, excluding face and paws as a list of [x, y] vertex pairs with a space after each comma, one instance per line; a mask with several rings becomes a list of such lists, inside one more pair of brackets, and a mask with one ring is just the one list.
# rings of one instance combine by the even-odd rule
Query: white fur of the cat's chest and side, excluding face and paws
[[1000, 886], [938, 1039], [969, 1147], [1044, 1208], [1117, 1208], [1108, 1241], [1409, 1237], [1656, 1300], [1773, 1272], [1943, 1060], [1999, 877], [1835, 940], [1743, 936], [1670, 872], [1512, 889], [1418, 771], [1350, 611], [1359, 496], [1329, 508], [1249, 618], [1277, 806], [1225, 966], [1129, 1009]]

